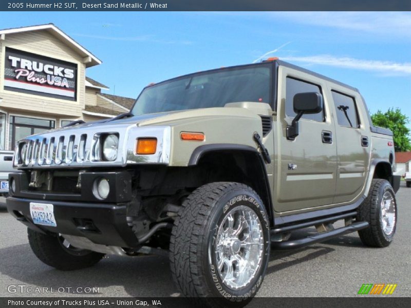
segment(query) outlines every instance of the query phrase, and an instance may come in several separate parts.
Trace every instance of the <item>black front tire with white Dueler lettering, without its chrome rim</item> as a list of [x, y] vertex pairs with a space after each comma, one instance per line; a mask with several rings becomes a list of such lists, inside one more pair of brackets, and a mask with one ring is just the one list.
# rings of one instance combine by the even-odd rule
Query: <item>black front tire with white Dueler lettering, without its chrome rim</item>
[[[259, 218], [264, 251], [254, 278], [242, 289], [233, 290], [222, 283], [217, 266], [210, 264], [210, 249], [224, 213], [236, 206], [250, 207]], [[257, 293], [264, 279], [270, 254], [267, 211], [257, 193], [244, 184], [216, 182], [197, 188], [183, 202], [174, 222], [170, 243], [173, 279], [182, 294], [200, 306], [242, 307]], [[212, 255], [212, 253], [210, 253]], [[203, 298], [205, 297], [205, 298]], [[200, 299], [201, 298], [201, 299]]]

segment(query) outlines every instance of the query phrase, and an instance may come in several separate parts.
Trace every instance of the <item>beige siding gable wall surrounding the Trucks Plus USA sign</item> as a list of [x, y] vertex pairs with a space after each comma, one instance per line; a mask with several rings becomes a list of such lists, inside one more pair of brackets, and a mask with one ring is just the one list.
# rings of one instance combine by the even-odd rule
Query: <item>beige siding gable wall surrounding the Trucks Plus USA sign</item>
[[[4, 90], [4, 53], [6, 47], [77, 64], [77, 101]], [[68, 117], [82, 117], [81, 110], [85, 103], [85, 64], [76, 51], [47, 30], [6, 34], [5, 40], [0, 40], [0, 67], [0, 75], [2, 76], [0, 78], [0, 97], [3, 98], [0, 109], [13, 112], [41, 112], [48, 114], [48, 116], [65, 114]]]

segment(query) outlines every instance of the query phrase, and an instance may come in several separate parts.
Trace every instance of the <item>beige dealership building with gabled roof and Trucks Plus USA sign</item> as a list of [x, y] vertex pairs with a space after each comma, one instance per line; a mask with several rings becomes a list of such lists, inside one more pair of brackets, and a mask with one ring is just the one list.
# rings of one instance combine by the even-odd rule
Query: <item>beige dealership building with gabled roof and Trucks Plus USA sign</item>
[[0, 30], [0, 150], [75, 120], [113, 118], [134, 99], [86, 76], [101, 61], [53, 24]]

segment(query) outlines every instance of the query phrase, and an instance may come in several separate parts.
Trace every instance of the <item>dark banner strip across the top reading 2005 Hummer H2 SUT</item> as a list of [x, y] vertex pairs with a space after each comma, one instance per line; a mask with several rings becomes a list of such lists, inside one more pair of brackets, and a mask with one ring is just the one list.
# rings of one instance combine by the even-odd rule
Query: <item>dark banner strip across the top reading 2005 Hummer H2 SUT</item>
[[409, 0], [5, 0], [1, 11], [410, 11]]

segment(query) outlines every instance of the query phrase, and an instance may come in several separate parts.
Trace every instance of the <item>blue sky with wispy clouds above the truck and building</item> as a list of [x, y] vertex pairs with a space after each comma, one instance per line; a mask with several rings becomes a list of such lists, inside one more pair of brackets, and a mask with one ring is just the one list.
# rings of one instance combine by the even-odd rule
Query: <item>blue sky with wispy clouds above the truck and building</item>
[[[268, 51], [360, 89], [371, 112], [411, 118], [409, 12], [0, 12], [0, 28], [54, 23], [99, 57], [110, 94], [256, 61]], [[411, 125], [410, 125], [411, 126]]]

